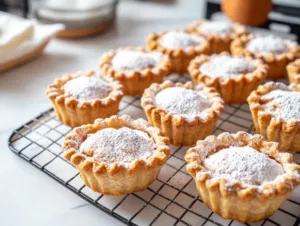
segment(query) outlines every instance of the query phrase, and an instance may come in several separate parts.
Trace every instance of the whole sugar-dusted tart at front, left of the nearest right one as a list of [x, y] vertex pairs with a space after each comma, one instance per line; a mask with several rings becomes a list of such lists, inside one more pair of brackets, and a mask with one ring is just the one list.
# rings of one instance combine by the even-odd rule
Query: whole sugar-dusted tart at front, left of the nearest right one
[[124, 115], [75, 128], [63, 150], [86, 186], [120, 196], [142, 191], [156, 179], [170, 153], [168, 142], [145, 120]]

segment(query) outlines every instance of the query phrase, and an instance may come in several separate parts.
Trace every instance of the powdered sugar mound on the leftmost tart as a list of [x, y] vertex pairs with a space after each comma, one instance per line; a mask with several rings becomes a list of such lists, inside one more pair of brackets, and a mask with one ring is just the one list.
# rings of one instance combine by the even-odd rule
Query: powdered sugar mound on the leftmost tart
[[65, 92], [79, 101], [104, 98], [112, 91], [110, 84], [100, 76], [80, 76], [64, 85]]

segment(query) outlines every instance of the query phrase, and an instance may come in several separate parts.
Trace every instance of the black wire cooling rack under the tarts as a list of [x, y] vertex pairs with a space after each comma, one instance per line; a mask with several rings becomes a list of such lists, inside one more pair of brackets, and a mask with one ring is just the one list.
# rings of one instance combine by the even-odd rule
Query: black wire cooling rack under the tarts
[[[173, 81], [186, 81], [185, 76], [169, 76]], [[144, 118], [140, 99], [124, 97], [119, 115]], [[104, 196], [91, 191], [80, 179], [78, 171], [64, 159], [61, 145], [71, 128], [56, 119], [53, 109], [45, 111], [14, 130], [10, 149], [43, 173], [52, 177], [100, 210], [128, 225], [282, 225], [300, 223], [300, 188], [269, 219], [255, 224], [225, 220], [208, 209], [197, 195], [194, 181], [186, 172], [184, 155], [188, 147], [172, 146], [167, 164], [157, 180], [145, 191], [121, 197]], [[225, 107], [215, 134], [224, 131], [252, 131], [252, 118], [247, 104]], [[300, 163], [300, 154], [295, 154]]]

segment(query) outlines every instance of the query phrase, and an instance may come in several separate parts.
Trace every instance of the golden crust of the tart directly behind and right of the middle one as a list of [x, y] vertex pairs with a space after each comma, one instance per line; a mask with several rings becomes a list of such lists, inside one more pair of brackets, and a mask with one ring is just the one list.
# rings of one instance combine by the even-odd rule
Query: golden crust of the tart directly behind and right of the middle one
[[[220, 55], [229, 56], [227, 52]], [[251, 91], [255, 90], [265, 79], [268, 73], [268, 66], [259, 63], [257, 68], [246, 74], [235, 78], [222, 79], [221, 77], [210, 77], [200, 71], [200, 66], [209, 61], [211, 56], [200, 55], [191, 61], [188, 71], [194, 84], [204, 83], [209, 87], [215, 87], [226, 104], [240, 104], [247, 100]], [[246, 57], [247, 59], [251, 59]], [[238, 94], [238, 95], [237, 95]]]

